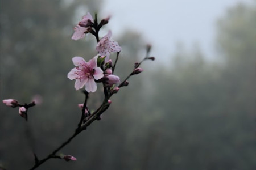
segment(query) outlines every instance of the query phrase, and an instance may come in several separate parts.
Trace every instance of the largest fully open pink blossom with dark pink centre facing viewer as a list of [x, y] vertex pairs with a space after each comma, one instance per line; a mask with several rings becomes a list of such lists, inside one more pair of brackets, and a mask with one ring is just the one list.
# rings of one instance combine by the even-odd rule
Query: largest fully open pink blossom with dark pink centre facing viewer
[[93, 57], [88, 62], [82, 57], [73, 57], [73, 64], [76, 66], [68, 73], [68, 78], [76, 79], [75, 88], [79, 90], [85, 86], [87, 92], [95, 92], [97, 84], [94, 81], [101, 79], [104, 74], [100, 67], [97, 67], [98, 56]]

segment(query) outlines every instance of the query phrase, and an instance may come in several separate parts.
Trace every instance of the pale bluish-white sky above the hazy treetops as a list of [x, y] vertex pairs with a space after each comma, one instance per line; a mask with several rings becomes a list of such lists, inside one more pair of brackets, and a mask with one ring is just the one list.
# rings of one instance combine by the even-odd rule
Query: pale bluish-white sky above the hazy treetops
[[117, 37], [126, 28], [141, 32], [153, 45], [152, 55], [170, 58], [176, 42], [191, 49], [195, 42], [214, 57], [216, 20], [228, 7], [251, 0], [105, 0], [101, 16], [111, 15], [108, 28]]

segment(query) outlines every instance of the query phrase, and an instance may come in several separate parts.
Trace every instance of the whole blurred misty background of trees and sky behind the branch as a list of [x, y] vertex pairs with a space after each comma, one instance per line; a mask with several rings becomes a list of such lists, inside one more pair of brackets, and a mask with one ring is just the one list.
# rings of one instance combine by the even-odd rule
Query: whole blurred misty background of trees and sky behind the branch
[[[73, 41], [89, 11], [113, 17], [121, 79], [153, 45], [156, 61], [112, 97], [112, 105], [38, 169], [255, 169], [255, 1], [0, 0], [0, 167], [28, 169], [77, 127], [84, 95], [67, 78], [74, 56], [96, 52], [91, 35]], [[112, 56], [114, 59], [114, 56]], [[98, 88], [101, 89], [100, 84]], [[90, 94], [96, 109], [102, 94]], [[32, 135], [28, 135], [28, 130]], [[1, 168], [0, 168], [1, 169]]]

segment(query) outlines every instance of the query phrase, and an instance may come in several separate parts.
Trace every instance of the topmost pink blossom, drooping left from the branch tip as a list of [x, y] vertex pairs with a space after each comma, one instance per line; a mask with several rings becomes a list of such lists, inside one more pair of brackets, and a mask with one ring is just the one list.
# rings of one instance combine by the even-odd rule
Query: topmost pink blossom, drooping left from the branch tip
[[78, 25], [74, 28], [75, 32], [71, 37], [72, 40], [79, 40], [85, 37], [86, 31], [88, 31], [89, 23], [93, 22], [92, 15], [89, 12], [82, 18]]

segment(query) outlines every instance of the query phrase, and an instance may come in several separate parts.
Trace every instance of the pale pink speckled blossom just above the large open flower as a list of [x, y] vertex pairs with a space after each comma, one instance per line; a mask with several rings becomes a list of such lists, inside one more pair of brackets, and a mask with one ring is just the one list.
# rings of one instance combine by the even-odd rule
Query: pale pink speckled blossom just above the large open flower
[[106, 56], [105, 61], [109, 60], [110, 53], [120, 52], [121, 47], [118, 43], [111, 39], [112, 32], [109, 31], [107, 35], [105, 35], [97, 44], [96, 51], [101, 56]]

